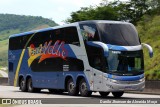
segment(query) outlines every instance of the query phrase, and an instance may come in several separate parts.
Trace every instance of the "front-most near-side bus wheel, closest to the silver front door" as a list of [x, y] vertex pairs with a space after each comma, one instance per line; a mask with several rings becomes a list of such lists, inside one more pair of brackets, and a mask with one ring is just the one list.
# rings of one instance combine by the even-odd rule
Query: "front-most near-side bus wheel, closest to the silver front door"
[[87, 83], [84, 79], [80, 81], [79, 91], [80, 91], [81, 96], [83, 97], [88, 97], [88, 96], [91, 96], [92, 94], [91, 91], [88, 91]]

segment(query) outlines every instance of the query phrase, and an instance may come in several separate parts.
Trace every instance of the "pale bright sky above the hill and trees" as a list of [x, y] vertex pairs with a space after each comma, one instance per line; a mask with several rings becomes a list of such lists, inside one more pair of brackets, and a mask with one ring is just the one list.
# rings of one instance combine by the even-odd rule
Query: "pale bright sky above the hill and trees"
[[[0, 0], [0, 13], [42, 16], [62, 25], [71, 12], [98, 5], [102, 0]], [[113, 1], [113, 0], [108, 0]], [[127, 0], [121, 0], [127, 1]]]

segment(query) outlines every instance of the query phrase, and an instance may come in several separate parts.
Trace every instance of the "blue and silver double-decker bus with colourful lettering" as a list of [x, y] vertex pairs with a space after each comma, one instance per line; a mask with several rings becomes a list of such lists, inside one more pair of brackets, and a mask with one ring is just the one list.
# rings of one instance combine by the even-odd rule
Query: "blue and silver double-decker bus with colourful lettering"
[[21, 91], [99, 92], [121, 97], [145, 88], [143, 46], [131, 23], [81, 21], [9, 37], [9, 84]]

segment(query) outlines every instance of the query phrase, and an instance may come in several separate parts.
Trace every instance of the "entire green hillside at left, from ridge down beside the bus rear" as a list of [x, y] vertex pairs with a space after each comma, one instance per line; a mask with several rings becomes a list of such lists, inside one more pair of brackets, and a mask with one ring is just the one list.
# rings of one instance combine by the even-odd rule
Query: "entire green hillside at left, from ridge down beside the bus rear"
[[42, 17], [0, 14], [0, 66], [7, 66], [8, 37], [33, 29], [57, 26], [57, 24]]

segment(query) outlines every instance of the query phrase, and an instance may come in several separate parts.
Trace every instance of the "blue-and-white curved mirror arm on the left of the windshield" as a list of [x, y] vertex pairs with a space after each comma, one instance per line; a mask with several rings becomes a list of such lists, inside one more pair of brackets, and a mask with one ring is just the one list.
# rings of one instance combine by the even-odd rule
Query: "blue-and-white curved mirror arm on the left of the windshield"
[[104, 50], [104, 56], [108, 56], [108, 46], [105, 43], [98, 41], [87, 41], [86, 43], [90, 46], [102, 48]]

